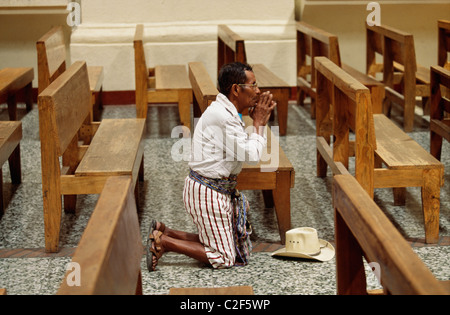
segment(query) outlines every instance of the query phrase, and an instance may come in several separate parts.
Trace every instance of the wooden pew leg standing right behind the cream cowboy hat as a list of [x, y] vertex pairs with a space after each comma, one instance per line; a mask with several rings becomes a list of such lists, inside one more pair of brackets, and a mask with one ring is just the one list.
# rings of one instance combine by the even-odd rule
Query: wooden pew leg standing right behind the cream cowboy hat
[[277, 185], [273, 190], [273, 201], [281, 244], [285, 244], [286, 232], [291, 229], [291, 172], [277, 172]]

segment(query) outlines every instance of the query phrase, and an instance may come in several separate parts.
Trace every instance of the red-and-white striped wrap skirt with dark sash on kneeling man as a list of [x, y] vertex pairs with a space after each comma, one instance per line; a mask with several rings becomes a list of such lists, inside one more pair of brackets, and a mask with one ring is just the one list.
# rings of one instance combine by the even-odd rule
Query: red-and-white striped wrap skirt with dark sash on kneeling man
[[191, 170], [183, 200], [213, 268], [243, 266], [251, 252], [249, 205], [236, 178], [210, 179]]

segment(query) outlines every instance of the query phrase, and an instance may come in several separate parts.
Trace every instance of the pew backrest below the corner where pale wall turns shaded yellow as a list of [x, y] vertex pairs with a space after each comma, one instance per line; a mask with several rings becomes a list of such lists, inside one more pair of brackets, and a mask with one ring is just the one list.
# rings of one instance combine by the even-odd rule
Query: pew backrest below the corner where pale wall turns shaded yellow
[[312, 87], [315, 87], [313, 60], [318, 56], [325, 56], [341, 66], [337, 36], [308, 23], [297, 22], [297, 76], [306, 79], [310, 74]]

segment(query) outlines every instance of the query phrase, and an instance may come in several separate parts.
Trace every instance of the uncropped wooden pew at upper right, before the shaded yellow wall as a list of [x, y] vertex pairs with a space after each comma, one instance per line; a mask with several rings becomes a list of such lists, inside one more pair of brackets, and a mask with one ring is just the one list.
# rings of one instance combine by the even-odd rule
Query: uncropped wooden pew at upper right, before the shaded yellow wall
[[[413, 35], [388, 26], [369, 26], [367, 31], [367, 73], [383, 73], [386, 86], [384, 111], [390, 115], [391, 104], [403, 107], [403, 128], [410, 132], [414, 127], [416, 96], [422, 97], [424, 111], [430, 96], [430, 71], [417, 65]], [[377, 63], [376, 55], [383, 56]]]

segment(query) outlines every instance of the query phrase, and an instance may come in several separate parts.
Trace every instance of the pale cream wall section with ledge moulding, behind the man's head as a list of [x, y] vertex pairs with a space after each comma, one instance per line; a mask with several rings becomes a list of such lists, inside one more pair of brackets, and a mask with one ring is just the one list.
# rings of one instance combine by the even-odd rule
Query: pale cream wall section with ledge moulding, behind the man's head
[[145, 25], [148, 66], [202, 61], [217, 77], [217, 25], [246, 40], [249, 63], [295, 85], [294, 0], [89, 0], [71, 41], [72, 61], [105, 67], [105, 90], [134, 90], [133, 37]]

